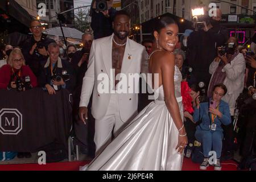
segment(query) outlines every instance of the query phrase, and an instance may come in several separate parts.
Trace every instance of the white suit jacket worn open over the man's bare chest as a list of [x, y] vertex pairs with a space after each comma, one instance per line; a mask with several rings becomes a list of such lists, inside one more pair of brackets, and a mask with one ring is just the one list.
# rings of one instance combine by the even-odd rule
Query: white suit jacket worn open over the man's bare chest
[[[92, 48], [90, 49], [88, 70], [85, 73], [85, 77], [82, 82], [80, 107], [88, 106], [90, 96], [93, 92], [92, 115], [95, 119], [102, 119], [106, 114], [109, 106], [111, 94], [99, 92], [98, 86], [101, 88], [103, 84], [102, 78], [99, 80], [98, 76], [105, 75], [107, 79], [104, 81], [109, 82], [111, 82], [111, 77], [114, 79], [114, 75], [110, 74], [110, 69], [112, 69], [113, 36], [114, 34], [112, 36], [93, 41]], [[123, 55], [121, 73], [125, 74], [127, 77], [129, 77], [129, 74], [131, 73], [147, 73], [147, 61], [148, 55], [146, 49], [141, 44], [127, 39], [125, 53]], [[111, 89], [110, 84], [108, 84], [107, 87], [108, 90]], [[130, 86], [127, 85], [127, 89], [129, 88]], [[139, 81], [135, 82], [134, 88], [139, 88]], [[128, 119], [131, 119], [131, 117], [133, 117], [135, 114], [137, 114], [138, 94], [119, 93], [118, 102], [122, 121], [127, 121]]]

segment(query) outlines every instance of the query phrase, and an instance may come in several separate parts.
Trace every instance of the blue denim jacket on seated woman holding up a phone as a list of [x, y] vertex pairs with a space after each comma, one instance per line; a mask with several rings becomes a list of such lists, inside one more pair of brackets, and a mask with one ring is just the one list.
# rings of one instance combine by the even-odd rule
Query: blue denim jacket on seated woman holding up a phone
[[[216, 131], [223, 131], [221, 124], [229, 125], [231, 123], [229, 105], [225, 101], [220, 101], [219, 111], [222, 113], [222, 118], [216, 117], [214, 123], [217, 125]], [[210, 131], [209, 126], [212, 125], [212, 119], [209, 115], [209, 103], [201, 103], [199, 109], [195, 109], [193, 114], [193, 119], [195, 122], [202, 121], [199, 126], [196, 127], [197, 130], [207, 130]]]

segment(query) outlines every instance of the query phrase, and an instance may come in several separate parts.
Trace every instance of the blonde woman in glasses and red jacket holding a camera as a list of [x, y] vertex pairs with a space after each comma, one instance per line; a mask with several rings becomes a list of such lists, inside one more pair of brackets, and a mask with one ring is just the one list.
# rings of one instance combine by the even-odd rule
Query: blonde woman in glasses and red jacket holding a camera
[[24, 91], [38, 85], [34, 73], [25, 65], [20, 49], [10, 53], [9, 64], [0, 68], [0, 88]]

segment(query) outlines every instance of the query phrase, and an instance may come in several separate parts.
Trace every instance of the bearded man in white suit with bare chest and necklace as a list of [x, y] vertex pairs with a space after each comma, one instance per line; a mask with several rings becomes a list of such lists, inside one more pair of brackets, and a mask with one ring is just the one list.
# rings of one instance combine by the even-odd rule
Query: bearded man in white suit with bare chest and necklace
[[[90, 49], [88, 70], [82, 83], [79, 115], [86, 123], [87, 106], [93, 92], [92, 115], [95, 118], [96, 154], [111, 141], [113, 127], [116, 136], [125, 124], [137, 115], [138, 109], [138, 93], [102, 93], [98, 89], [102, 86], [102, 80], [98, 80], [98, 76], [105, 74], [108, 81], [114, 80], [104, 86], [115, 91], [121, 82], [120, 73], [129, 77], [131, 74], [147, 73], [148, 70], [146, 49], [128, 38], [130, 16], [126, 11], [117, 11], [113, 28], [112, 36], [94, 40]], [[117, 77], [117, 81], [113, 77]], [[139, 80], [136, 80], [134, 85], [134, 90], [137, 90]], [[127, 90], [130, 87], [131, 85], [127, 84]]]

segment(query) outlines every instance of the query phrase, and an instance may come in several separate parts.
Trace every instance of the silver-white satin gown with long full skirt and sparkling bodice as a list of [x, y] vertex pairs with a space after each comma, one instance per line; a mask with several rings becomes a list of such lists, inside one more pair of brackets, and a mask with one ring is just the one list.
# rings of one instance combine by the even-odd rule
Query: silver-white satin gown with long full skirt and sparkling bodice
[[[179, 68], [175, 66], [175, 96], [183, 118]], [[89, 165], [89, 171], [180, 171], [183, 154], [175, 150], [179, 132], [164, 102], [163, 86], [151, 102]]]

